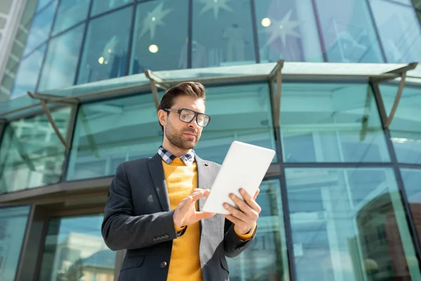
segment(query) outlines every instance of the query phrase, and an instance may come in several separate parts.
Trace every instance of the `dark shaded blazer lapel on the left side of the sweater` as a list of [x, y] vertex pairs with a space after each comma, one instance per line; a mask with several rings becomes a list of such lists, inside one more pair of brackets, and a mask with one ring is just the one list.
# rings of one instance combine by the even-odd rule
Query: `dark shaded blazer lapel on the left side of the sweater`
[[147, 162], [149, 174], [151, 174], [152, 182], [154, 183], [154, 190], [156, 197], [158, 197], [159, 204], [161, 204], [162, 211], [170, 211], [170, 198], [168, 197], [168, 190], [166, 186], [165, 176], [163, 175], [162, 158], [158, 153], [150, 158]]

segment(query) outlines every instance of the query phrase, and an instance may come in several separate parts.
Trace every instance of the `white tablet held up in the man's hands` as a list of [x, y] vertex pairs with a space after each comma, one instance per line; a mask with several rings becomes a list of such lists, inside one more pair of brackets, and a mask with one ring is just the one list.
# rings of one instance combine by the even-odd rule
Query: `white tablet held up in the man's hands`
[[242, 199], [239, 188], [243, 188], [253, 197], [262, 183], [275, 153], [274, 150], [234, 141], [201, 211], [229, 214], [223, 204], [227, 202], [236, 207], [229, 195], [234, 193]]

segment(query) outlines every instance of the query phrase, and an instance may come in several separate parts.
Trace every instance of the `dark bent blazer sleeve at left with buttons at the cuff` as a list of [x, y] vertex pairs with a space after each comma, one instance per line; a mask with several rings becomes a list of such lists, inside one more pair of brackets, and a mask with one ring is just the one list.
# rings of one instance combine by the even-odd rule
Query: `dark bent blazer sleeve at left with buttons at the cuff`
[[173, 240], [185, 233], [176, 232], [173, 210], [133, 216], [131, 186], [124, 163], [116, 169], [105, 204], [101, 233], [105, 244], [114, 251], [140, 249]]

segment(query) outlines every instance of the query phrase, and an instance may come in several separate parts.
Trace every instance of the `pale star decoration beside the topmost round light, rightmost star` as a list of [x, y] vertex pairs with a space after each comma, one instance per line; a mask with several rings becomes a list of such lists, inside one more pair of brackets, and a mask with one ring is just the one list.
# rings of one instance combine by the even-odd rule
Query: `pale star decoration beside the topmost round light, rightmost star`
[[301, 22], [298, 20], [290, 20], [292, 10], [288, 11], [282, 20], [272, 20], [271, 25], [265, 27], [265, 30], [262, 32], [270, 34], [269, 39], [267, 39], [267, 45], [272, 44], [276, 39], [281, 39], [283, 46], [286, 46], [286, 37], [300, 37], [300, 34], [295, 31], [295, 27], [301, 25]]

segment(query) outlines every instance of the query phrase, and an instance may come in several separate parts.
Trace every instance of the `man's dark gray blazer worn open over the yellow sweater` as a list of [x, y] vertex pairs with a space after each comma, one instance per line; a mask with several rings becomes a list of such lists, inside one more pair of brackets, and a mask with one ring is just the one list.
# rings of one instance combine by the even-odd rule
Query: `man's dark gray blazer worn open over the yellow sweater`
[[[196, 163], [199, 188], [211, 188], [220, 165], [197, 156]], [[204, 200], [199, 200], [199, 210]], [[173, 212], [158, 154], [118, 166], [101, 231], [109, 249], [127, 249], [119, 281], [166, 280], [173, 240], [185, 232], [175, 231]], [[203, 281], [229, 280], [225, 256], [238, 256], [253, 239], [239, 240], [234, 225], [221, 214], [199, 224]]]

